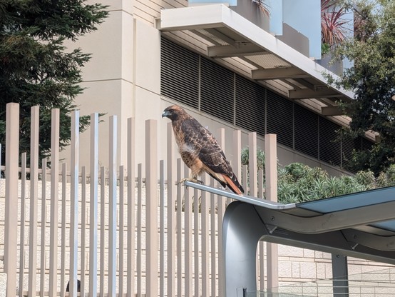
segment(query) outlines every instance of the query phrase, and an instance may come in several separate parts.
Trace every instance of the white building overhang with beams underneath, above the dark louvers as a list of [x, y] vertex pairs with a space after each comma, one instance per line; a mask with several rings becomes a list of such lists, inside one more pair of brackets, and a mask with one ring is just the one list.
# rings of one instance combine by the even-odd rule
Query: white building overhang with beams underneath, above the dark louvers
[[[352, 92], [329, 86], [327, 76], [337, 78], [331, 71], [224, 4], [164, 9], [158, 27], [172, 34], [188, 32], [190, 39], [205, 44], [202, 51], [206, 56], [224, 64], [244, 63], [247, 71], [244, 69], [243, 74], [250, 79], [309, 109], [314, 106], [323, 116], [342, 115], [337, 101], [353, 99]], [[185, 46], [191, 44], [193, 41], [185, 41]], [[302, 99], [311, 102], [304, 104]]]

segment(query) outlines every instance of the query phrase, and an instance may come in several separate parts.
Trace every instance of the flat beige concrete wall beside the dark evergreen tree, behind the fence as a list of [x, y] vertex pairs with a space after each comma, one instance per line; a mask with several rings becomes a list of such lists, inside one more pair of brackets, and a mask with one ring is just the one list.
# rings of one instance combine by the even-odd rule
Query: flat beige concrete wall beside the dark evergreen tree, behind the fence
[[[95, 3], [96, 1], [91, 1]], [[126, 136], [126, 121], [133, 116], [133, 5], [131, 1], [101, 1], [110, 5], [109, 16], [98, 30], [82, 36], [76, 43], [67, 42], [68, 49], [79, 47], [92, 54], [83, 68], [83, 83], [86, 88], [78, 96], [76, 104], [80, 114], [103, 113], [99, 125], [99, 158], [101, 165], [108, 166], [108, 117], [118, 117], [118, 163], [122, 163], [126, 146], [120, 139]], [[80, 158], [82, 165], [89, 161], [89, 131], [81, 135]], [[66, 149], [61, 158], [67, 161], [70, 151]]]

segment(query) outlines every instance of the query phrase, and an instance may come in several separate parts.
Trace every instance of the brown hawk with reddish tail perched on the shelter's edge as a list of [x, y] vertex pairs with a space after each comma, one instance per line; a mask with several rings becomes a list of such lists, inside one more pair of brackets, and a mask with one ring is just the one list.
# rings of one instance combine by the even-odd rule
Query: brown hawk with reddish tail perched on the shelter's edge
[[183, 178], [180, 182], [200, 182], [198, 175], [205, 171], [224, 188], [227, 186], [238, 195], [244, 193], [222, 148], [210, 131], [177, 105], [165, 109], [163, 117], [171, 120], [181, 158], [192, 171], [189, 178]]

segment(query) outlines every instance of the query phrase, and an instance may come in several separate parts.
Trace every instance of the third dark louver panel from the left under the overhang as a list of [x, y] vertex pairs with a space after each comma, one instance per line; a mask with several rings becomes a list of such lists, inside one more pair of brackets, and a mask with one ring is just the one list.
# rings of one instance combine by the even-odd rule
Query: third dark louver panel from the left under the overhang
[[265, 135], [265, 88], [236, 76], [236, 125]]

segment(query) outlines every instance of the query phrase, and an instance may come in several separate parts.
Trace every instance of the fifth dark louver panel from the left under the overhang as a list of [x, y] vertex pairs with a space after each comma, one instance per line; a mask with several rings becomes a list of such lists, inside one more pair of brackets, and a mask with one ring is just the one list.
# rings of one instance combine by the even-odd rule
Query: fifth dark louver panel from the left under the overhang
[[318, 115], [294, 104], [295, 150], [318, 158]]

